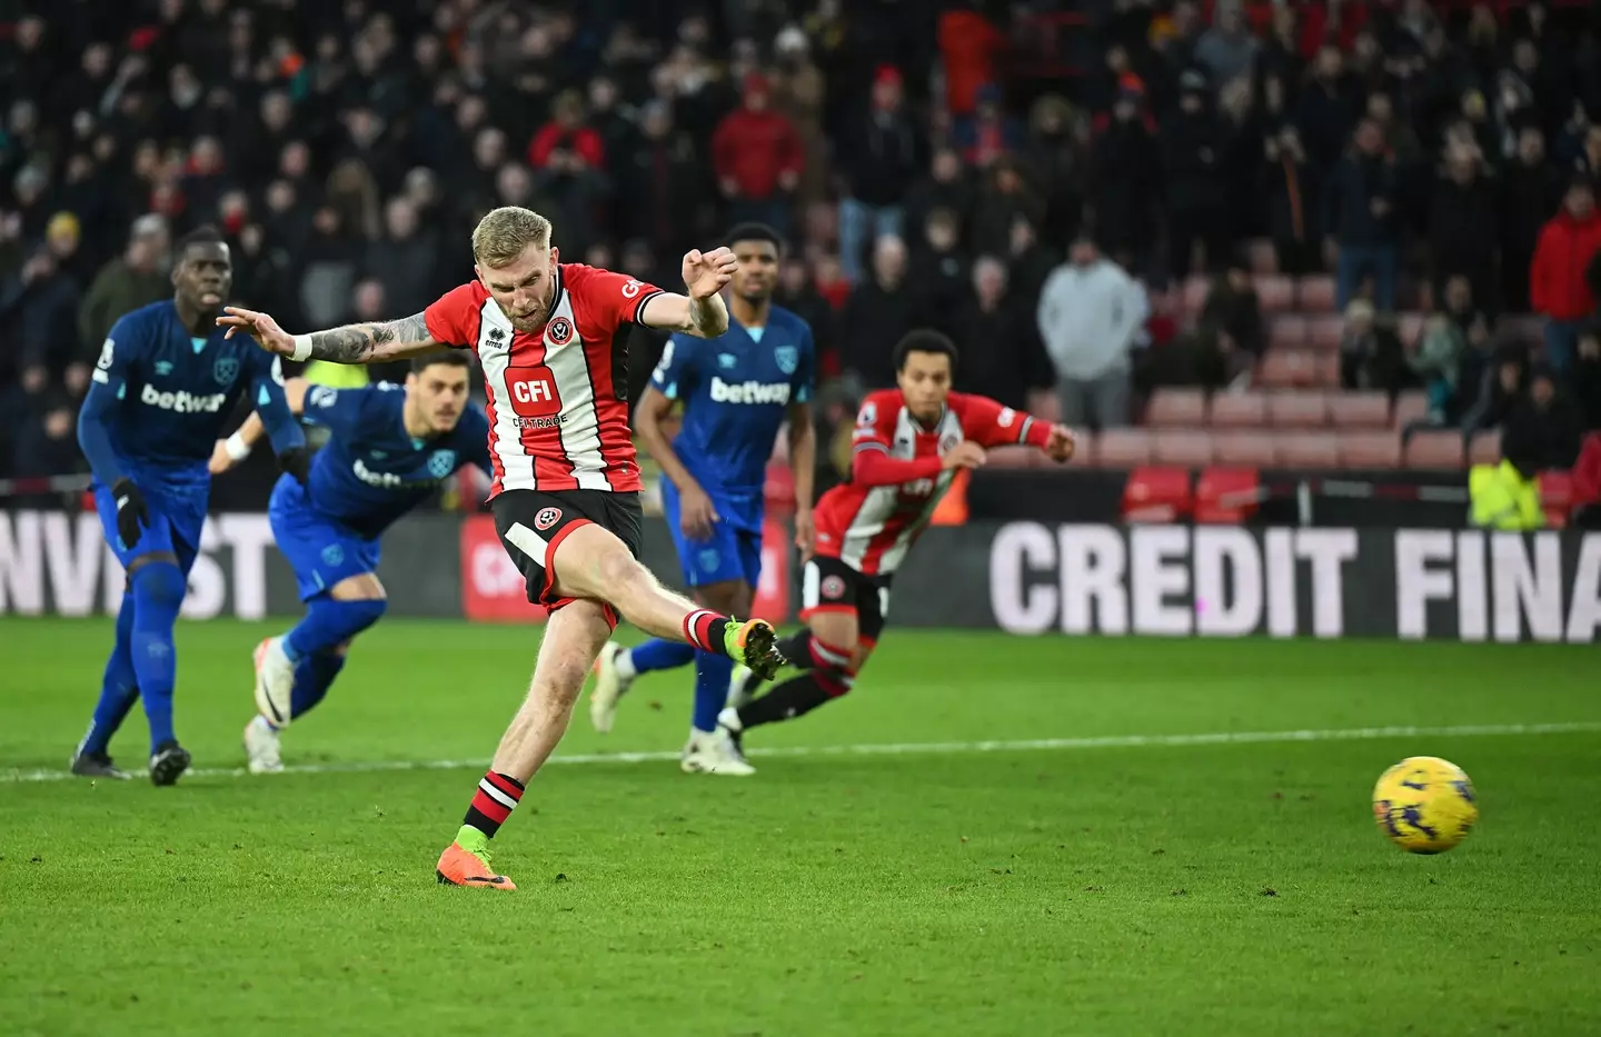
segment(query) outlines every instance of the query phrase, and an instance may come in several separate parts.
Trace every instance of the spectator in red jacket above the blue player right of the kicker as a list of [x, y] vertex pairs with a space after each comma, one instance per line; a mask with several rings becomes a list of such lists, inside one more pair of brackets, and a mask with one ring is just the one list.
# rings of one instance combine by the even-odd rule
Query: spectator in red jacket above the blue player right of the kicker
[[744, 77], [738, 109], [717, 123], [712, 165], [728, 198], [730, 222], [765, 222], [789, 234], [789, 195], [800, 182], [805, 152], [794, 125], [768, 106], [770, 88], [759, 72]]

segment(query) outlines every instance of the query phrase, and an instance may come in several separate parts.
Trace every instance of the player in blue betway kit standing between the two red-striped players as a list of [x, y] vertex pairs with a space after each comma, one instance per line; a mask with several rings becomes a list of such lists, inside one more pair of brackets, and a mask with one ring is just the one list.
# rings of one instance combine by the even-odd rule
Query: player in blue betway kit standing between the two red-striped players
[[[714, 339], [674, 334], [650, 378], [634, 427], [661, 466], [661, 502], [695, 600], [724, 615], [751, 615], [762, 571], [762, 502], [767, 461], [789, 422], [796, 480], [796, 543], [812, 546], [812, 330], [773, 306], [778, 235], [741, 224], [728, 235], [738, 267], [730, 283], [728, 331]], [[684, 424], [669, 440], [663, 422], [674, 402]], [[688, 773], [751, 775], [738, 746], [717, 727], [733, 663], [688, 645], [650, 640], [607, 645], [596, 661], [589, 719], [612, 730], [616, 703], [639, 675], [695, 663], [695, 712], [682, 767]]]

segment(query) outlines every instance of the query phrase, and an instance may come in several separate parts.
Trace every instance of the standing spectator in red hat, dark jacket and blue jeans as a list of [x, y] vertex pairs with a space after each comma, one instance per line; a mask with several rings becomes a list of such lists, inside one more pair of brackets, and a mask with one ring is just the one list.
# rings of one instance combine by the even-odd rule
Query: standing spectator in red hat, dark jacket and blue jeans
[[900, 69], [879, 66], [866, 109], [852, 117], [837, 158], [845, 182], [839, 202], [839, 258], [845, 277], [855, 282], [868, 242], [901, 234], [906, 184], [929, 163], [924, 134], [906, 110]]

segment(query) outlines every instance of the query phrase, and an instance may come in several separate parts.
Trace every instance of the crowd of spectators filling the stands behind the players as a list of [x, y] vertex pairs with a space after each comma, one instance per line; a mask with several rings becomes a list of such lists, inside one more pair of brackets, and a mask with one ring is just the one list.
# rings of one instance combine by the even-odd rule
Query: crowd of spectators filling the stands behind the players
[[[1076, 29], [1023, 74], [1044, 26]], [[0, 24], [0, 475], [83, 470], [99, 342], [175, 235], [219, 226], [234, 296], [314, 330], [419, 310], [508, 203], [663, 285], [780, 229], [836, 424], [914, 325], [1074, 424], [1249, 384], [1276, 267], [1335, 277], [1346, 387], [1566, 467], [1601, 427], [1598, 50], [1540, 3], [58, 0]]]

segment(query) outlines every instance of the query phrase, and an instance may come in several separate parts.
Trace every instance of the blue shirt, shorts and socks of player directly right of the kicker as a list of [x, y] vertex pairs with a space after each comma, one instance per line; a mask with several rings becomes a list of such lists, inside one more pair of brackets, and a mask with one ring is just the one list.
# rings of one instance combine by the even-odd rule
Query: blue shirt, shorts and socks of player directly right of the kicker
[[[762, 575], [762, 523], [767, 461], [789, 414], [789, 405], [812, 400], [815, 379], [812, 328], [773, 306], [767, 325], [736, 320], [714, 338], [674, 334], [650, 378], [669, 400], [680, 400], [684, 419], [672, 453], [695, 477], [717, 512], [706, 539], [684, 535], [680, 496], [661, 480], [661, 509], [690, 587], [743, 581], [756, 587]], [[650, 640], [626, 653], [629, 680], [637, 674], [695, 663], [692, 727], [712, 731], [724, 707], [733, 664], [688, 645]]]

